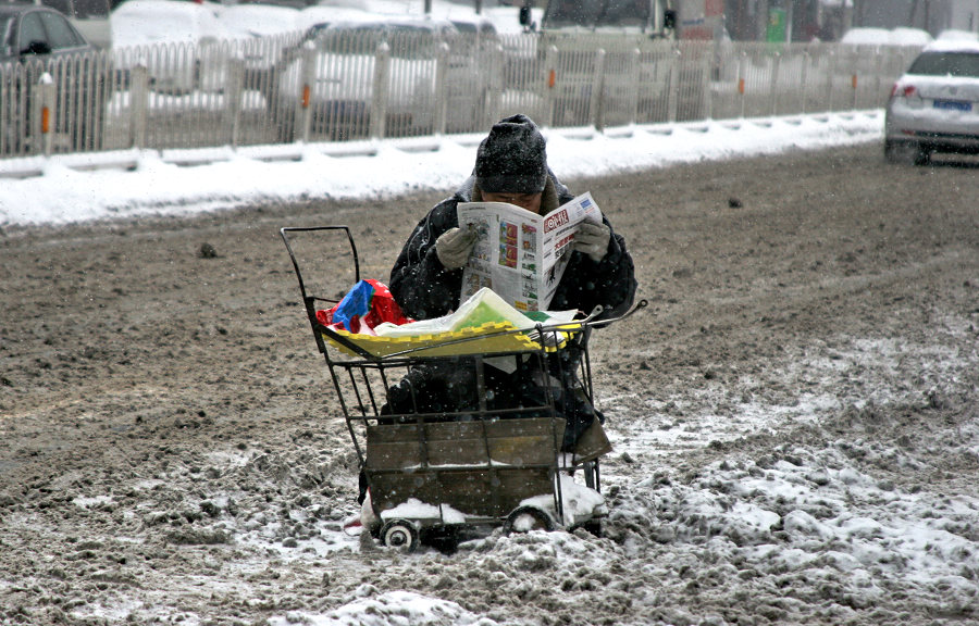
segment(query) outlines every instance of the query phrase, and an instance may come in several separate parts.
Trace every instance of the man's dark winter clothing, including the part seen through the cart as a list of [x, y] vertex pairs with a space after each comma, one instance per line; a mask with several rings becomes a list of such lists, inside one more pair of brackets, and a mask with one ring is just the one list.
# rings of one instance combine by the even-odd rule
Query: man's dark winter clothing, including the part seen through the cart
[[[548, 171], [541, 212], [548, 213], [573, 198]], [[462, 270], [448, 271], [442, 265], [435, 252], [435, 241], [443, 233], [458, 226], [456, 205], [459, 202], [481, 199], [482, 193], [474, 185], [474, 178], [470, 178], [416, 226], [391, 272], [391, 291], [406, 315], [427, 320], [459, 308]], [[603, 221], [611, 230], [608, 220], [603, 217]], [[580, 252], [571, 254], [548, 309], [591, 313], [596, 305], [602, 305], [600, 318], [609, 318], [624, 313], [632, 305], [636, 281], [632, 258], [625, 250], [622, 237], [611, 231], [608, 252], [599, 262]], [[548, 358], [544, 367], [552, 380], [547, 385], [549, 391], [535, 381], [540, 380], [540, 376], [535, 376], [535, 371], [541, 370], [540, 363], [534, 365], [517, 360], [516, 370], [510, 373], [487, 365], [485, 379], [480, 384], [472, 358], [432, 360], [413, 366], [408, 376], [388, 390], [389, 403], [384, 412], [406, 415], [475, 411], [481, 396], [478, 385], [483, 385], [487, 391], [483, 396], [487, 398], [490, 411], [540, 406], [549, 395], [555, 410], [567, 422], [561, 449], [572, 451], [579, 436], [594, 420], [605, 420], [592, 405], [578, 378], [581, 348], [578, 343], [569, 343]]]

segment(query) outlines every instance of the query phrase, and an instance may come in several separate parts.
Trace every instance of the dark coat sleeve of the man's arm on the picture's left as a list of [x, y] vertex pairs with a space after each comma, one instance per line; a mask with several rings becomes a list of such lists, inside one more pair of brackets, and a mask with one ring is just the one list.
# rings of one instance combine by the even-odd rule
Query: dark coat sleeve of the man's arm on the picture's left
[[432, 209], [414, 227], [391, 271], [389, 287], [409, 317], [429, 320], [459, 306], [462, 270], [446, 270], [435, 253], [438, 237], [459, 225], [454, 196]]

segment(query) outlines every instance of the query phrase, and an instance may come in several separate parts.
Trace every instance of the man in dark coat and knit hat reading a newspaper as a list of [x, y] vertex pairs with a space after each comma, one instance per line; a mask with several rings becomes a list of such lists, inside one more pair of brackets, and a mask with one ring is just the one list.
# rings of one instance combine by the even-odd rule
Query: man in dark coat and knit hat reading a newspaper
[[[479, 263], [473, 258], [473, 251], [480, 239], [478, 227], [460, 227], [460, 204], [501, 202], [530, 212], [528, 215], [546, 216], [572, 201], [580, 202], [580, 199], [575, 199], [548, 167], [545, 140], [533, 121], [525, 115], [501, 120], [480, 143], [475, 167], [469, 179], [450, 198], [436, 204], [414, 227], [391, 272], [392, 293], [405, 314], [416, 320], [447, 315], [458, 309], [463, 293], [463, 267], [470, 266], [472, 270]], [[541, 293], [530, 293], [535, 288], [533, 286], [526, 289], [526, 293], [522, 288], [517, 293], [512, 287], [497, 293], [510, 304], [525, 310], [578, 310], [587, 314], [600, 305], [599, 318], [624, 313], [632, 305], [636, 289], [625, 240], [612, 230], [608, 218], [597, 208], [586, 213], [578, 220], [573, 233], [568, 234], [569, 237], [573, 235], [565, 241], [570, 246], [570, 251], [562, 256], [563, 271], [560, 276], [554, 276], [555, 284], [550, 286], [546, 300], [540, 297]], [[494, 236], [497, 235], [507, 236], [506, 233]], [[483, 243], [486, 241], [488, 239], [484, 239]], [[521, 238], [519, 234], [515, 241], [518, 248], [513, 252], [517, 265], [528, 263], [524, 252], [531, 251], [524, 250], [524, 246], [542, 246], [531, 243], [530, 237]], [[497, 243], [505, 242], [498, 239]], [[555, 243], [554, 249], [558, 248], [560, 246]], [[503, 253], [497, 250], [492, 256], [497, 263], [500, 258], [505, 262], [513, 259], [509, 256], [509, 250]], [[546, 281], [547, 273], [543, 275]], [[511, 284], [519, 280], [515, 279]], [[495, 284], [493, 288], [496, 290]], [[577, 449], [577, 443], [584, 431], [596, 421], [604, 421], [604, 417], [584, 397], [575, 379], [580, 351], [572, 348], [558, 353], [561, 363], [552, 364], [550, 371], [555, 374], [549, 381], [534, 380], [533, 374], [519, 360], [500, 368], [487, 366], [486, 386], [493, 391], [491, 409], [494, 405], [503, 409], [530, 403], [541, 397], [542, 385], [549, 385], [558, 411], [568, 421], [563, 450], [573, 452], [579, 461], [587, 461], [608, 451], [604, 435], [600, 437], [604, 443], [593, 450]], [[446, 360], [445, 363], [412, 372], [392, 390], [391, 411], [468, 410], [467, 403], [472, 402], [475, 380], [473, 367], [464, 361], [464, 358]], [[560, 373], [561, 379], [557, 379], [557, 373]], [[404, 405], [410, 398], [423, 405]], [[600, 430], [600, 426], [597, 429]]]

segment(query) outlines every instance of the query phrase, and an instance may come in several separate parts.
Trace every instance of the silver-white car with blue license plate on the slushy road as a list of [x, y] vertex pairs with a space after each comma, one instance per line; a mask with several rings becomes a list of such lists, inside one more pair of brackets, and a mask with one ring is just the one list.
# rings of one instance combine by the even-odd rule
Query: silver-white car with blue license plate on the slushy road
[[885, 158], [924, 165], [934, 152], [979, 154], [979, 42], [929, 45], [891, 89]]

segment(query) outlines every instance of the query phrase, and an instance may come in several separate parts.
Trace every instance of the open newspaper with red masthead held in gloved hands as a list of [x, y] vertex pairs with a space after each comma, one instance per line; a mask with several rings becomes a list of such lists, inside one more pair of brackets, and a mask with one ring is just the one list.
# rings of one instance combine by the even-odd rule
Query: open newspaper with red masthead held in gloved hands
[[462, 272], [461, 300], [488, 287], [518, 311], [544, 311], [571, 258], [578, 225], [602, 223], [590, 192], [547, 215], [506, 202], [462, 202], [460, 228], [478, 233]]

